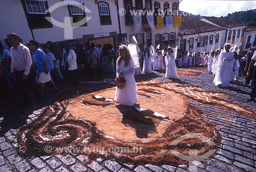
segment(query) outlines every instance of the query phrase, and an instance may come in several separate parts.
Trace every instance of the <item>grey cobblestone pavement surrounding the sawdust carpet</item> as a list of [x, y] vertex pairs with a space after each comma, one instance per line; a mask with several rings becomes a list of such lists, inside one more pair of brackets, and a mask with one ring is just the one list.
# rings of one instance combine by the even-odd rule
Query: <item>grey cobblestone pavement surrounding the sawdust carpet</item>
[[[181, 69], [188, 70], [188, 69]], [[214, 77], [206, 71], [200, 75], [191, 77], [180, 75], [175, 82], [182, 85], [194, 85], [202, 87], [206, 91], [218, 91], [229, 94], [227, 101], [256, 110], [256, 103], [247, 102], [249, 97], [250, 86], [245, 86], [244, 77], [238, 77], [236, 82], [232, 82], [229, 88], [222, 89], [214, 86], [212, 83]], [[115, 73], [108, 78], [115, 78]], [[164, 73], [153, 72], [147, 75], [136, 76], [136, 81], [159, 79], [161, 81], [170, 81], [164, 78]], [[213, 105], [205, 105], [191, 99], [186, 99], [190, 104], [200, 108], [206, 117], [214, 123], [222, 136], [221, 145], [211, 158], [194, 161], [194, 166], [154, 166], [151, 164], [136, 166], [127, 165], [122, 162], [114, 162], [104, 159], [97, 159], [89, 165], [83, 164], [87, 160], [86, 156], [82, 155], [66, 155], [66, 156], [38, 156], [38, 157], [22, 157], [14, 148], [14, 139], [19, 127], [26, 125], [40, 115], [42, 108], [54, 102], [58, 95], [72, 90], [83, 89], [102, 89], [106, 85], [99, 84], [79, 84], [79, 86], [71, 87], [66, 83], [58, 85], [60, 91], [51, 93], [46, 91], [48, 96], [47, 101], [35, 103], [33, 106], [22, 107], [15, 106], [8, 109], [0, 109], [1, 116], [1, 135], [0, 135], [0, 171], [95, 171], [95, 172], [128, 172], [128, 171], [143, 171], [143, 172], [168, 172], [168, 171], [256, 171], [256, 120], [241, 116], [238, 113], [231, 113], [221, 107]], [[196, 167], [197, 166], [197, 167]]]

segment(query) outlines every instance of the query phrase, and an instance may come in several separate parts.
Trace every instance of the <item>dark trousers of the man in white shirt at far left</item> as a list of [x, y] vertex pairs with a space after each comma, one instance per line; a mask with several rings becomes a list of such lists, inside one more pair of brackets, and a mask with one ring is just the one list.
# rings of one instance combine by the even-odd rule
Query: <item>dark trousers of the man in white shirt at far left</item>
[[23, 80], [22, 77], [24, 75], [24, 71], [16, 71], [16, 89], [20, 95], [22, 95], [25, 102], [31, 102], [31, 98], [28, 95], [28, 89], [31, 88], [36, 97], [39, 97], [39, 89], [38, 85], [35, 81], [35, 73], [33, 69], [30, 69], [30, 73], [28, 75], [27, 80]]

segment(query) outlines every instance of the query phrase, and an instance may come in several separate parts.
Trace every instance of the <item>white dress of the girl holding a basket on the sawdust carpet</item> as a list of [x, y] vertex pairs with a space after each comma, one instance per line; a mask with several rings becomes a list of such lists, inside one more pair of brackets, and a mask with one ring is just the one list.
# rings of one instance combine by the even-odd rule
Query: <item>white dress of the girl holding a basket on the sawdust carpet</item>
[[121, 60], [120, 65], [118, 65], [118, 63], [116, 64], [116, 72], [117, 75], [118, 73], [123, 72], [123, 78], [126, 80], [126, 85], [123, 89], [116, 87], [114, 100], [122, 105], [133, 106], [136, 102], [138, 102], [133, 60], [130, 59], [130, 64], [127, 67], [125, 67], [125, 61]]

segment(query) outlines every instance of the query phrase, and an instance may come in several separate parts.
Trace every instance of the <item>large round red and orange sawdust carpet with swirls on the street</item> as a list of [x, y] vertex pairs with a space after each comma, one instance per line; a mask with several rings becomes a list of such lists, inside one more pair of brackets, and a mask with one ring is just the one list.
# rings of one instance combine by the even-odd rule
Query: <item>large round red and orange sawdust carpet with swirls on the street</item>
[[[79, 97], [70, 94], [71, 99], [49, 106], [35, 121], [20, 129], [17, 135], [20, 151], [26, 156], [38, 156], [49, 155], [44, 151], [46, 145], [52, 146], [52, 154], [57, 154], [58, 147], [76, 146], [81, 148], [76, 154], [87, 155], [90, 160], [102, 157], [132, 164], [187, 164], [174, 156], [172, 150], [188, 155], [189, 150], [196, 149], [203, 155], [217, 148], [195, 138], [171, 145], [175, 139], [202, 133], [219, 144], [221, 137], [201, 110], [188, 105], [182, 96], [252, 114], [248, 108], [225, 101], [226, 94], [205, 92], [200, 87], [159, 80], [140, 82], [137, 86], [140, 102], [132, 108], [111, 101], [114, 88]], [[136, 108], [144, 110], [139, 112]], [[109, 152], [111, 148], [130, 150]], [[89, 149], [94, 152], [89, 153]], [[65, 152], [62, 154], [74, 154]]]

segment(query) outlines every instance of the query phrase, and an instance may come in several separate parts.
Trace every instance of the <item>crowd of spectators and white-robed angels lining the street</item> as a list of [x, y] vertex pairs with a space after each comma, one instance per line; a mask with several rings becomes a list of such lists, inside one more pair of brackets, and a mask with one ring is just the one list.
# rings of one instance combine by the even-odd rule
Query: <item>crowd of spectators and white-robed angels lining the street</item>
[[[59, 50], [51, 41], [40, 44], [30, 40], [23, 44], [22, 39], [15, 34], [7, 35], [6, 47], [0, 56], [0, 87], [3, 97], [13, 104], [16, 94], [22, 96], [25, 104], [31, 103], [28, 90], [33, 90], [38, 100], [44, 99], [45, 83], [50, 82], [53, 92], [58, 91], [58, 83], [67, 79], [71, 85], [78, 84], [80, 75], [96, 81], [104, 72], [117, 72], [118, 77], [124, 77], [127, 82], [134, 81], [134, 75], [152, 73], [152, 70], [166, 69], [166, 78], [176, 78], [177, 67], [206, 66], [209, 73], [215, 76], [216, 86], [228, 87], [236, 76], [246, 76], [246, 84], [252, 79], [250, 101], [256, 97], [255, 76], [253, 69], [255, 53], [230, 50], [230, 44], [225, 44], [225, 50], [211, 50], [209, 54], [188, 53], [177, 47], [168, 47], [166, 51], [155, 49], [153, 46], [145, 50], [138, 48], [138, 65], [134, 65], [127, 46], [119, 48], [111, 44], [104, 44], [103, 48], [95, 43], [78, 44], [72, 50], [70, 44], [59, 43]], [[79, 66], [81, 70], [78, 70]], [[137, 67], [135, 67], [137, 66]], [[141, 68], [141, 67], [142, 68]], [[132, 77], [133, 76], [133, 77]], [[136, 84], [127, 84], [128, 90], [135, 90]], [[129, 88], [128, 88], [129, 87]], [[116, 95], [124, 94], [123, 90], [116, 90]], [[127, 90], [126, 90], [127, 91]], [[125, 91], [124, 91], [125, 92]], [[127, 91], [129, 92], [129, 91]], [[126, 93], [127, 93], [126, 92]], [[131, 106], [137, 102], [137, 94], [129, 94], [131, 102], [126, 102], [115, 96], [117, 102]], [[127, 97], [126, 96], [126, 97]]]

